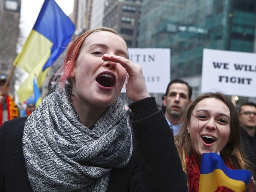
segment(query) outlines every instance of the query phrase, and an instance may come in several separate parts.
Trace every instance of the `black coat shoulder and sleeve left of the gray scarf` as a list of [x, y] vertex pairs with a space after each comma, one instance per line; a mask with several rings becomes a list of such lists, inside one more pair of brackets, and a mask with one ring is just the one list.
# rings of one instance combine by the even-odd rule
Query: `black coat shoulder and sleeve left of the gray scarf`
[[32, 191], [22, 150], [26, 120], [17, 117], [0, 127], [0, 191]]

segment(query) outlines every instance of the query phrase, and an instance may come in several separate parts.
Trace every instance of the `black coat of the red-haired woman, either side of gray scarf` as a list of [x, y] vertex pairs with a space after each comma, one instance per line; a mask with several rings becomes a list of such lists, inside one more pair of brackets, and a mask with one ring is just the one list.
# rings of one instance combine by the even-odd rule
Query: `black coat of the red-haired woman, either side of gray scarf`
[[[13, 119], [0, 128], [0, 191], [32, 191], [22, 151], [26, 119]], [[137, 144], [134, 143], [131, 160], [123, 168], [112, 169], [107, 191], [188, 191], [163, 112], [134, 121], [132, 126]]]

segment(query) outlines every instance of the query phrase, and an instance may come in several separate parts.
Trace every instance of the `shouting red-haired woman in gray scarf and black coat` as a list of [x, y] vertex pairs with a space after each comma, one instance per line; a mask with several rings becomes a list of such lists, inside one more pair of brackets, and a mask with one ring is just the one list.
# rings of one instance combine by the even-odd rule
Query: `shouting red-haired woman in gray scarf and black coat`
[[0, 191], [188, 191], [173, 133], [115, 30], [77, 37], [62, 69], [30, 116], [0, 128]]

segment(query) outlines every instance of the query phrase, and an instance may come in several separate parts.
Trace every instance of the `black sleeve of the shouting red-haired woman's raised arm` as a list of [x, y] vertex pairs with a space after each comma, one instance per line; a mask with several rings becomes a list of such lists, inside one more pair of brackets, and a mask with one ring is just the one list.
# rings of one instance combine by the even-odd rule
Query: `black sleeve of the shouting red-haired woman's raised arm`
[[130, 105], [139, 162], [133, 170], [131, 191], [188, 191], [172, 131], [155, 98]]

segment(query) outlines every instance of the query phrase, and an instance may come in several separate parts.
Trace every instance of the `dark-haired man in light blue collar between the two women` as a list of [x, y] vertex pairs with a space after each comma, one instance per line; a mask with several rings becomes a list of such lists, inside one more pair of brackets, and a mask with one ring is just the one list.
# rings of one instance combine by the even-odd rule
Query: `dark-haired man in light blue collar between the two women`
[[192, 87], [181, 79], [174, 79], [167, 85], [163, 98], [163, 111], [174, 135], [182, 125], [182, 115], [192, 102], [191, 96]]

